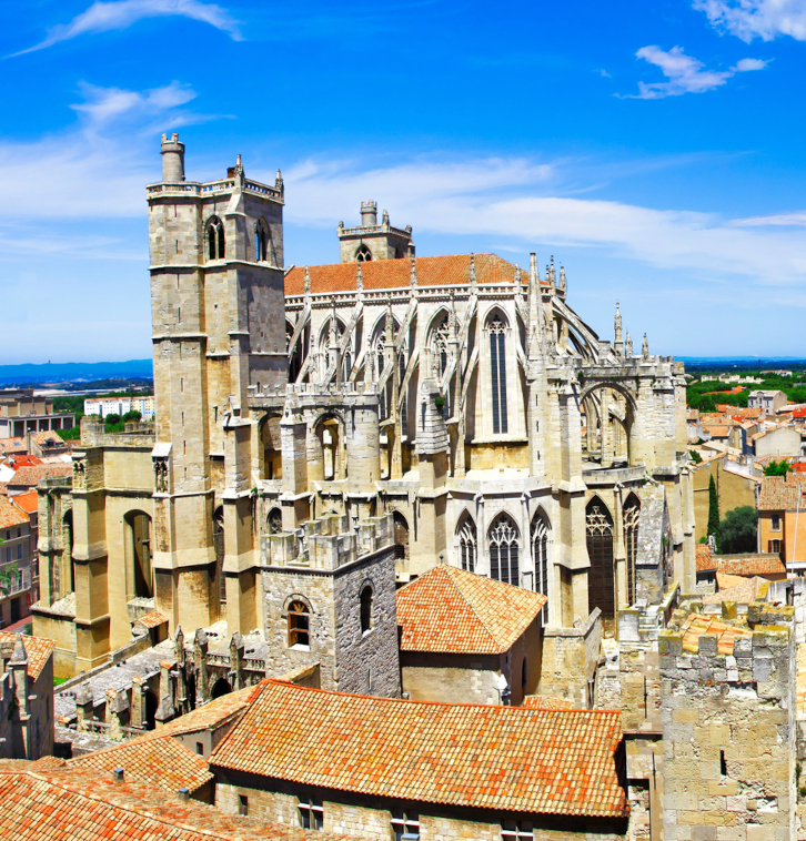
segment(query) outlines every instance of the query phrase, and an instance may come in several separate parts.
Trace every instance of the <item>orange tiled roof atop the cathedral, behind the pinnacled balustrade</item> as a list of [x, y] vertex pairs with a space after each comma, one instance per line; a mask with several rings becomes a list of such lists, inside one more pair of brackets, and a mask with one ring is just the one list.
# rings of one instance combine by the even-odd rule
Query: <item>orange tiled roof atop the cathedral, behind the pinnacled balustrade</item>
[[[470, 283], [470, 254], [453, 254], [442, 257], [415, 257], [417, 286], [444, 286]], [[502, 260], [497, 254], [476, 254], [476, 281], [478, 283], [514, 283], [515, 265]], [[309, 266], [311, 292], [355, 291], [355, 275], [359, 263], [334, 263], [332, 265]], [[361, 263], [361, 275], [365, 290], [392, 290], [411, 285], [412, 261], [373, 260]], [[528, 273], [523, 272], [523, 283]], [[295, 266], [285, 275], [285, 295], [302, 295], [305, 292], [305, 268]]]

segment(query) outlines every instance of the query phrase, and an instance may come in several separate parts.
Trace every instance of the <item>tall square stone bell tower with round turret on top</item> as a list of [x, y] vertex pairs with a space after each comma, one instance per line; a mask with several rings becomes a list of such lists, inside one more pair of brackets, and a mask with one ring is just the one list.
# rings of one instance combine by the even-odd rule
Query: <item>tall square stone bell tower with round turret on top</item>
[[[286, 379], [283, 182], [185, 181], [162, 135], [148, 186], [157, 444], [153, 569], [172, 628], [255, 627], [249, 386]], [[215, 534], [214, 534], [215, 531]], [[218, 547], [216, 547], [218, 544]], [[218, 549], [218, 550], [216, 550]]]

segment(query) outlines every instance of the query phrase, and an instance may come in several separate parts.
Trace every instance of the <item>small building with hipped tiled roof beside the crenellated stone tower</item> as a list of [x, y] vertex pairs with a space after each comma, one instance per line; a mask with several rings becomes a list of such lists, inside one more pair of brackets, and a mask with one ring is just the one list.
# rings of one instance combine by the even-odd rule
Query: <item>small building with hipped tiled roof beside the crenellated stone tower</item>
[[397, 591], [412, 700], [517, 706], [537, 691], [546, 597], [441, 565]]

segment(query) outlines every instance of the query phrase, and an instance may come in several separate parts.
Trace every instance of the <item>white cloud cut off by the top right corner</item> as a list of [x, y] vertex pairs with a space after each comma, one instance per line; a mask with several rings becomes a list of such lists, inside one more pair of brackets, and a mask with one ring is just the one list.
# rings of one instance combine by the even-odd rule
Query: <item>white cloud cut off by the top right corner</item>
[[803, 0], [694, 0], [693, 6], [706, 13], [715, 29], [747, 43], [754, 38], [772, 41], [778, 36], [806, 41]]

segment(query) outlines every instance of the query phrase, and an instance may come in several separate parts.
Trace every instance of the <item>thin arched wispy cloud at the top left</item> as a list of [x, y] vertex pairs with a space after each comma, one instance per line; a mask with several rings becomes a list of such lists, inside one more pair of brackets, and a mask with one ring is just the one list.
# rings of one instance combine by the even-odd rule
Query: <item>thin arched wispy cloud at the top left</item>
[[[77, 14], [69, 23], [60, 23], [49, 30], [48, 37], [27, 50], [13, 53], [23, 55], [36, 50], [43, 50], [60, 41], [69, 41], [83, 34], [109, 32], [113, 29], [128, 29], [144, 18], [182, 17], [209, 23], [226, 32], [234, 40], [241, 36], [236, 22], [226, 9], [215, 3], [203, 3], [200, 0], [97, 0], [81, 14]], [[13, 57], [10, 57], [13, 58]]]

